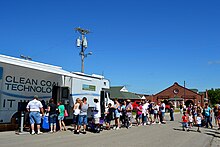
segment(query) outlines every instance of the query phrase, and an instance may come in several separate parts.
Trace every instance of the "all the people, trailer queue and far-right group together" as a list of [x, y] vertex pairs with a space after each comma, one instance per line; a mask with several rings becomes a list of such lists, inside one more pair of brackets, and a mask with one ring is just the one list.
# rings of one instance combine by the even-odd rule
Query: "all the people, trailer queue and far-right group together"
[[[73, 132], [75, 134], [86, 134], [88, 128], [95, 133], [99, 133], [102, 129], [106, 130], [119, 130], [122, 127], [130, 128], [133, 124], [136, 126], [145, 126], [151, 124], [166, 124], [165, 121], [165, 103], [164, 101], [155, 103], [150, 100], [142, 100], [138, 103], [138, 106], [133, 108], [132, 102], [128, 100], [118, 101], [114, 100], [114, 104], [109, 103], [103, 115], [101, 115], [100, 102], [98, 98], [94, 98], [94, 108], [92, 109], [92, 120], [88, 122], [88, 109], [89, 104], [87, 98], [77, 98], [72, 110], [73, 110]], [[34, 99], [27, 104], [27, 110], [29, 113], [31, 134], [41, 134], [41, 115], [49, 113], [50, 133], [54, 133], [57, 130], [66, 131], [66, 125], [64, 123], [65, 118], [65, 106], [58, 102], [55, 104], [51, 98], [46, 109], [43, 109], [42, 103], [38, 100], [38, 96], [34, 96]], [[197, 126], [197, 131], [200, 132], [200, 127], [211, 127], [212, 113], [214, 113], [214, 119], [218, 129], [220, 129], [220, 106], [216, 105], [214, 109], [205, 103], [204, 107], [189, 104], [188, 107], [180, 104], [180, 113], [182, 114], [182, 127], [189, 130], [193, 126]], [[135, 116], [135, 118], [134, 118]], [[135, 122], [133, 121], [135, 119]], [[58, 120], [58, 127], [57, 127]], [[174, 106], [170, 103], [170, 121], [174, 121]], [[35, 124], [37, 125], [37, 131], [35, 132]]]

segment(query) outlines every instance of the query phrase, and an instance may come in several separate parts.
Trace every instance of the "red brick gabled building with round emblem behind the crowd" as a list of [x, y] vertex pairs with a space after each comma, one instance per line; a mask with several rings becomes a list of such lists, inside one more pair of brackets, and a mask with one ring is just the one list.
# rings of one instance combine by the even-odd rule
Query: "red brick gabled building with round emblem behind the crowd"
[[154, 102], [161, 102], [164, 100], [165, 103], [168, 103], [172, 101], [176, 107], [179, 106], [180, 103], [184, 103], [186, 106], [190, 103], [200, 104], [201, 106], [204, 105], [204, 95], [199, 94], [195, 90], [187, 89], [177, 82], [167, 89], [152, 95], [152, 97]]

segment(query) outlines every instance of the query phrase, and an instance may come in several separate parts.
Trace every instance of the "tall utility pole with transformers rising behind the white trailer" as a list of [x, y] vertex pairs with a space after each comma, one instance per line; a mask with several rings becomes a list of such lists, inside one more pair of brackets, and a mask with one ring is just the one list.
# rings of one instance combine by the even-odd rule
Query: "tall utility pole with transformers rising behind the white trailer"
[[90, 33], [89, 30], [86, 29], [82, 29], [80, 27], [75, 28], [75, 30], [77, 32], [79, 32], [81, 34], [81, 39], [80, 37], [76, 40], [76, 45], [77, 47], [81, 48], [81, 51], [79, 53], [79, 55], [81, 56], [81, 72], [84, 73], [84, 59], [88, 56], [88, 55], [92, 55], [92, 52], [89, 52], [87, 54], [85, 54], [85, 50], [88, 47], [88, 42], [86, 40], [85, 35]]

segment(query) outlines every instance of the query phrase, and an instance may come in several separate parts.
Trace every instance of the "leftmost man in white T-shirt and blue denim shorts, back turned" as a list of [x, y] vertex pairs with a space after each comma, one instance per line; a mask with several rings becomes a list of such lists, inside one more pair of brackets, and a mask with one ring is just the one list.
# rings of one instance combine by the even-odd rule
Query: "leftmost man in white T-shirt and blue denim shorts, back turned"
[[41, 124], [41, 115], [40, 112], [42, 113], [42, 115], [44, 115], [44, 110], [43, 110], [43, 105], [42, 103], [38, 100], [38, 96], [35, 95], [34, 99], [31, 100], [27, 106], [27, 111], [30, 112], [29, 113], [29, 118], [30, 118], [30, 124], [31, 124], [31, 135], [35, 134], [34, 131], [34, 124], [37, 124], [37, 134], [41, 134], [42, 132], [40, 131], [40, 124]]

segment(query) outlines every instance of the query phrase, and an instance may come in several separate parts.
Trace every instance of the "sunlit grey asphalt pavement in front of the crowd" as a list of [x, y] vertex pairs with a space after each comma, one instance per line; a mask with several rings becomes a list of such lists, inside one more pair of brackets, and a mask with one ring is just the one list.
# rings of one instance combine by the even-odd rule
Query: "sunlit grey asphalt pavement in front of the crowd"
[[[201, 128], [201, 133], [193, 127], [189, 132], [182, 131], [180, 115], [175, 114], [175, 121], [169, 121], [166, 116], [166, 124], [154, 124], [147, 126], [133, 126], [119, 130], [104, 130], [100, 133], [87, 132], [73, 134], [70, 130], [57, 133], [43, 133], [30, 135], [15, 134], [14, 131], [0, 132], [1, 147], [220, 147], [220, 131]], [[71, 127], [69, 126], [71, 129]]]

